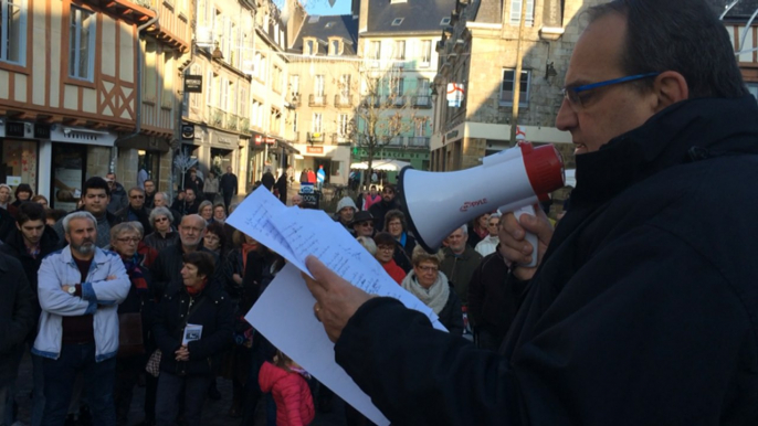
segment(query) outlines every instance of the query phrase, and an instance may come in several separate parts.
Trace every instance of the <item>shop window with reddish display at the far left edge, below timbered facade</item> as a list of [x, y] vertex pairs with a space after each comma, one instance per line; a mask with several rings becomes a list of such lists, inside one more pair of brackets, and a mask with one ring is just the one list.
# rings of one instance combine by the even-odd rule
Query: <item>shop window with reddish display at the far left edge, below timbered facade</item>
[[19, 183], [29, 183], [34, 190], [34, 193], [38, 192], [36, 140], [3, 140], [0, 163], [2, 167], [2, 175], [0, 177], [1, 182], [10, 184], [13, 189], [15, 189]]

